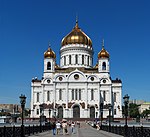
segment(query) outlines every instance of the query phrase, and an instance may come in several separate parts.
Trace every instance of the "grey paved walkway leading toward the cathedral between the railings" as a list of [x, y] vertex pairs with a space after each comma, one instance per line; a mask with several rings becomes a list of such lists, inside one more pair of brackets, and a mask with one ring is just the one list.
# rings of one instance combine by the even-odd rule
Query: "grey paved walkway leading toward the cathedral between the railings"
[[62, 137], [122, 137], [120, 135], [108, 133], [101, 130], [96, 130], [85, 123], [81, 123], [80, 128], [76, 128], [75, 130], [76, 131], [74, 134], [63, 135], [62, 132], [60, 132], [59, 135], [53, 135], [51, 130], [51, 131], [33, 135], [31, 137], [53, 137], [53, 136], [56, 137], [61, 137], [61, 136]]

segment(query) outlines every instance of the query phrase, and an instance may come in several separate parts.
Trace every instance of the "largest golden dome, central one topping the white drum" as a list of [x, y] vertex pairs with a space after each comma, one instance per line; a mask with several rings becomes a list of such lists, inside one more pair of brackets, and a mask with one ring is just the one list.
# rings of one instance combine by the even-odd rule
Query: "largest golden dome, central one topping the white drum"
[[92, 46], [91, 39], [78, 27], [78, 21], [76, 21], [76, 25], [73, 30], [62, 39], [62, 46], [68, 44], [84, 44]]

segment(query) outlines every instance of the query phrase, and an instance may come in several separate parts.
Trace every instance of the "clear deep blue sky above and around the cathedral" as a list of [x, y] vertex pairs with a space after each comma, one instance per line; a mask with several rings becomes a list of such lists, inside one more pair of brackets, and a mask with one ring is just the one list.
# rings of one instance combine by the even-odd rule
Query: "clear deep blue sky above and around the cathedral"
[[0, 103], [30, 105], [30, 84], [43, 74], [48, 41], [57, 55], [62, 38], [75, 25], [91, 38], [94, 65], [104, 38], [112, 79], [120, 78], [123, 95], [150, 101], [149, 0], [0, 0]]

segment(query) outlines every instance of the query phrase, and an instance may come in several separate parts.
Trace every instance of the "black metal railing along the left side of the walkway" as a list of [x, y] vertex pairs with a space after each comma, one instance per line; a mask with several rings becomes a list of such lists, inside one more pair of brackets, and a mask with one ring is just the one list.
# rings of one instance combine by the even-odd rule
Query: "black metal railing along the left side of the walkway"
[[41, 126], [25, 126], [25, 127], [0, 127], [0, 137], [21, 137], [22, 129], [24, 130], [25, 136], [34, 135], [40, 132], [51, 130], [51, 125]]

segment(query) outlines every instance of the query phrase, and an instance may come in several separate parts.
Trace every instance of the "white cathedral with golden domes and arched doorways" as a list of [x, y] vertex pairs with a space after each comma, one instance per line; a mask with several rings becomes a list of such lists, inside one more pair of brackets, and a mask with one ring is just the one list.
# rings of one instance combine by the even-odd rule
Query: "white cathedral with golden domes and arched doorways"
[[[61, 42], [60, 65], [49, 46], [41, 79], [31, 81], [31, 118], [122, 118], [122, 82], [110, 76], [104, 41], [93, 65], [92, 40], [75, 27]], [[110, 109], [111, 107], [111, 109]]]

